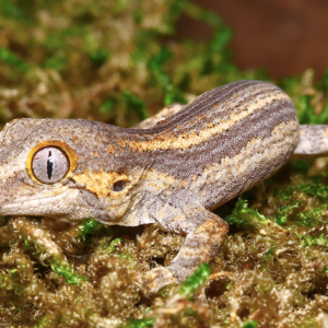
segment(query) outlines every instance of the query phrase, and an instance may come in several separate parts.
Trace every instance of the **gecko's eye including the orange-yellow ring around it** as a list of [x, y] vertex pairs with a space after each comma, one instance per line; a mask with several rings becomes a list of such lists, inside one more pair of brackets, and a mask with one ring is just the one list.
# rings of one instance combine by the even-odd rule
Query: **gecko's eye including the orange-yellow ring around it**
[[28, 154], [27, 171], [38, 183], [54, 185], [65, 179], [78, 164], [71, 148], [60, 141], [46, 141], [36, 145]]

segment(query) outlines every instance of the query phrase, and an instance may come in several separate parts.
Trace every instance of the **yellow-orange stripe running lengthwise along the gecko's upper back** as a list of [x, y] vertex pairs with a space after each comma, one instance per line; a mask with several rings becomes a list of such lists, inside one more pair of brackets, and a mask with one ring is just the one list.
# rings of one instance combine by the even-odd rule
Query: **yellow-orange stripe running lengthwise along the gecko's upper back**
[[[266, 85], [271, 86], [271, 84]], [[239, 95], [231, 97], [225, 103], [222, 103], [218, 96], [215, 99], [213, 105], [210, 102], [202, 108], [202, 114], [195, 115], [192, 110], [189, 110], [188, 120], [176, 126], [166, 125], [169, 129], [161, 133], [151, 133], [152, 129], [150, 129], [148, 136], [142, 132], [130, 134], [132, 138], [119, 139], [118, 143], [122, 148], [130, 148], [132, 152], [139, 153], [161, 149], [188, 149], [229, 130], [237, 121], [260, 110], [265, 105], [270, 105], [276, 101], [290, 101], [288, 95], [278, 87], [272, 87], [270, 93], [263, 91], [257, 97], [250, 93], [250, 97], [244, 102], [241, 102]]]

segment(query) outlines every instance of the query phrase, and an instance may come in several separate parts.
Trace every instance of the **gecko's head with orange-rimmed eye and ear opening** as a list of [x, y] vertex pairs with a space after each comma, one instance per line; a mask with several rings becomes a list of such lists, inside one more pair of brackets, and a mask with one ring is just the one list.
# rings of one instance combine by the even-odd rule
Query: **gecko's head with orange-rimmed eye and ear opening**
[[0, 215], [120, 221], [142, 174], [114, 151], [122, 131], [82, 119], [8, 124], [0, 133]]

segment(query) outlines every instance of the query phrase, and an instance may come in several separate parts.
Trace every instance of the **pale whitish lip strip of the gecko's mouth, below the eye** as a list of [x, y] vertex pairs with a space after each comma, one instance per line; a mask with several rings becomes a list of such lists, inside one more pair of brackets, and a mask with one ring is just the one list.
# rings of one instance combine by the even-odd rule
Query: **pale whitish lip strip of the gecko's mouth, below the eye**
[[75, 199], [78, 190], [66, 190], [59, 195], [22, 200], [0, 206], [0, 215], [45, 215], [62, 214], [68, 201]]

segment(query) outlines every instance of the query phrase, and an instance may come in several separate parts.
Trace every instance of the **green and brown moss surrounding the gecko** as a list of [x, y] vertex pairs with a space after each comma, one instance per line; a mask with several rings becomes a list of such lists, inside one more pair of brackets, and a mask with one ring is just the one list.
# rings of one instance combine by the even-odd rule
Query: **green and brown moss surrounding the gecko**
[[[211, 42], [174, 40], [180, 14]], [[0, 125], [19, 117], [131, 126], [164, 105], [241, 79], [231, 30], [187, 0], [0, 0]], [[276, 81], [302, 124], [328, 121], [328, 74]], [[148, 298], [138, 277], [184, 237], [156, 226], [1, 218], [1, 327], [324, 327], [328, 312], [328, 161], [290, 161], [218, 209], [231, 232], [214, 260]], [[327, 324], [326, 324], [327, 325]], [[326, 326], [327, 327], [327, 326]]]

